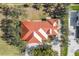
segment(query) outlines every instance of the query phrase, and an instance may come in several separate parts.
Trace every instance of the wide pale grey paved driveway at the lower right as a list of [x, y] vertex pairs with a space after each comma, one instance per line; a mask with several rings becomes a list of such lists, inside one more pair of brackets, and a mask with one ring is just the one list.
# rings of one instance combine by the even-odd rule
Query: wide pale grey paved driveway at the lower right
[[75, 29], [71, 29], [70, 32], [74, 35], [69, 35], [68, 56], [74, 56], [75, 51], [79, 49], [79, 44], [75, 40]]

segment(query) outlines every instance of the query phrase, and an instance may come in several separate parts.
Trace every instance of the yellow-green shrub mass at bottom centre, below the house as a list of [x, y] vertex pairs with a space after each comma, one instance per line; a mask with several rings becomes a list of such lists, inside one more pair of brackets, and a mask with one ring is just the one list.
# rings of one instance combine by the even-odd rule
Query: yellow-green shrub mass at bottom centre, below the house
[[51, 49], [49, 45], [37, 46], [33, 48], [31, 51], [34, 56], [57, 56], [58, 53]]

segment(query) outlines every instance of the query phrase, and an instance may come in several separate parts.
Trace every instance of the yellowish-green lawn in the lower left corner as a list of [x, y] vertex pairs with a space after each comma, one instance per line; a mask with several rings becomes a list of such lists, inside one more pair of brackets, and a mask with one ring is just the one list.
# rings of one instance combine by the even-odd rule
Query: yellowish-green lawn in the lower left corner
[[20, 55], [18, 48], [8, 45], [5, 41], [0, 39], [0, 55], [1, 56], [17, 56]]

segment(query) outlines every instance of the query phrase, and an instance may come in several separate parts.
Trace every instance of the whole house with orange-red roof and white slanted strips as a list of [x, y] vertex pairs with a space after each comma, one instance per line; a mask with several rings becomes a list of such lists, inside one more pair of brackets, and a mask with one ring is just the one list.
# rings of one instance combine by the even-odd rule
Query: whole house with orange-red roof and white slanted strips
[[58, 20], [48, 18], [46, 21], [21, 21], [21, 39], [34, 46], [48, 40], [49, 36], [57, 36], [60, 28]]

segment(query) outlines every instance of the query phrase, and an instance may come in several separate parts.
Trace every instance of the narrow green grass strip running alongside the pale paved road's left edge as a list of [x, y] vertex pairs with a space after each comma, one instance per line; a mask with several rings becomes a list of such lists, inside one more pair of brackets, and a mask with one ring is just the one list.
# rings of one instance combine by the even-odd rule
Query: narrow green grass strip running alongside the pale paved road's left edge
[[[63, 26], [66, 28], [65, 33], [63, 33], [64, 37], [65, 37], [65, 41], [68, 40], [68, 16], [65, 15], [64, 16], [64, 24]], [[64, 39], [63, 39], [64, 40]], [[68, 51], [68, 44], [67, 43], [62, 43], [63, 47], [61, 47], [61, 56], [67, 56], [67, 51]]]

